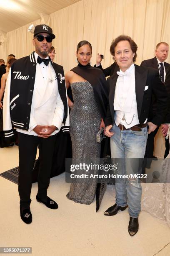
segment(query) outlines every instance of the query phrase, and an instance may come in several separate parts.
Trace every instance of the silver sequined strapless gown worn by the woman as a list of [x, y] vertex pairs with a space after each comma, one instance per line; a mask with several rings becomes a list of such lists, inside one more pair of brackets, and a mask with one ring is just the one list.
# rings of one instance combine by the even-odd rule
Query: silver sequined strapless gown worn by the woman
[[[89, 82], [70, 84], [74, 105], [70, 112], [70, 136], [72, 140], [72, 159], [99, 159], [100, 143], [96, 142], [101, 117]], [[89, 205], [96, 194], [97, 181], [92, 179], [72, 183], [67, 198]]]

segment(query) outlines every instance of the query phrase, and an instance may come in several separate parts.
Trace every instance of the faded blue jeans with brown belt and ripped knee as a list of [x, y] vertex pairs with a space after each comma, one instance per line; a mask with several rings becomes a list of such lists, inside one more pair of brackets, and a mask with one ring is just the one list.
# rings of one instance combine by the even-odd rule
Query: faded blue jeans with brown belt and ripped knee
[[[148, 137], [147, 127], [142, 131], [120, 130], [114, 124], [114, 135], [110, 138], [111, 157], [117, 164], [115, 174], [139, 174], [142, 159], [145, 155]], [[115, 179], [116, 204], [122, 207], [128, 205], [130, 217], [137, 218], [140, 213], [142, 187], [138, 178]]]

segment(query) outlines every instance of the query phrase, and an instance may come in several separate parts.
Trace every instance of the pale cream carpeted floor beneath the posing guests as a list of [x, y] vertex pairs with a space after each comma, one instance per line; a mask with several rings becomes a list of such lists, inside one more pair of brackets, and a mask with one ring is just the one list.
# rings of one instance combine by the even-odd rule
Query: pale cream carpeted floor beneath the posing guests
[[[0, 148], [0, 173], [13, 166], [18, 166], [18, 148]], [[32, 223], [26, 225], [20, 219], [17, 185], [0, 177], [0, 247], [32, 247], [34, 256], [170, 255], [170, 228], [147, 212], [140, 213], [134, 237], [128, 234], [127, 210], [103, 215], [115, 202], [112, 185], [97, 213], [95, 200], [91, 205], [68, 200], [69, 187], [64, 173], [50, 180], [48, 195], [59, 205], [51, 210], [36, 201], [37, 183], [32, 184]]]

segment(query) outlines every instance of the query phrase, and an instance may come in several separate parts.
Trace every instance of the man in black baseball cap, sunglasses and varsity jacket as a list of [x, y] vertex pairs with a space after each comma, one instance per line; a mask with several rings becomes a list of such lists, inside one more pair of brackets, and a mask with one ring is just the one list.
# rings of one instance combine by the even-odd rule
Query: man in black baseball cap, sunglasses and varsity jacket
[[52, 63], [48, 56], [54, 38], [49, 26], [35, 26], [35, 51], [15, 61], [5, 88], [4, 132], [8, 138], [13, 136], [13, 127], [18, 131], [20, 216], [27, 224], [32, 222], [30, 193], [37, 146], [40, 170], [36, 199], [51, 209], [58, 208], [47, 197], [47, 188], [56, 134], [60, 129], [68, 131], [69, 114], [63, 67]]

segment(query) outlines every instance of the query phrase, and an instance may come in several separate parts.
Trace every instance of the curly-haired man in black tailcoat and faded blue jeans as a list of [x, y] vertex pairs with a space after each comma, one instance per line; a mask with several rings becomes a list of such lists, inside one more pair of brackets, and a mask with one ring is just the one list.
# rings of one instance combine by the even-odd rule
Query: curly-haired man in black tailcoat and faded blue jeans
[[[109, 102], [105, 120], [105, 134], [110, 137], [111, 157], [117, 165], [116, 203], [108, 208], [105, 215], [115, 215], [128, 207], [130, 221], [128, 232], [138, 232], [138, 216], [142, 187], [138, 176], [145, 155], [148, 133], [155, 131], [166, 113], [166, 91], [159, 73], [152, 68], [140, 67], [136, 60], [138, 46], [129, 36], [118, 36], [112, 41], [110, 52], [120, 71], [107, 79]], [[152, 94], [157, 98], [157, 113], [150, 122], [147, 119]], [[141, 159], [141, 161], [140, 161]]]

